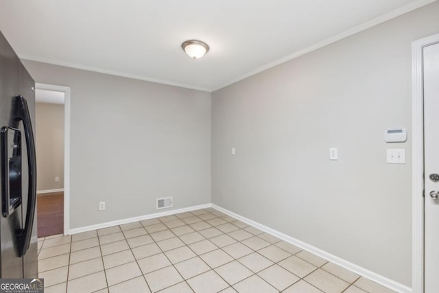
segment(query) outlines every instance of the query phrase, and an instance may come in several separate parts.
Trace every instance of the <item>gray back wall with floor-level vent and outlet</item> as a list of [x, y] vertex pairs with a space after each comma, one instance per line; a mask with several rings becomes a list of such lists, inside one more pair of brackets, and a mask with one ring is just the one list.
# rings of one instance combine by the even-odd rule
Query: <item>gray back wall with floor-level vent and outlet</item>
[[23, 64], [71, 88], [71, 228], [156, 213], [163, 196], [174, 209], [211, 202], [210, 93]]

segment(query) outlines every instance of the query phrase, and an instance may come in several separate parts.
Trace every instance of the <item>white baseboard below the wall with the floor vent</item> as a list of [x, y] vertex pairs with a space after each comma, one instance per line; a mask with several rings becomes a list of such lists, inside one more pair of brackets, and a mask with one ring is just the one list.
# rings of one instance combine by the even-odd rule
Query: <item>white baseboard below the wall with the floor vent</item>
[[101, 223], [101, 224], [84, 226], [84, 227], [80, 227], [80, 228], [72, 228], [69, 230], [69, 235], [82, 233], [82, 232], [86, 232], [86, 231], [93, 231], [93, 230], [102, 229], [102, 228], [108, 228], [108, 227], [116, 226], [116, 225], [128, 224], [128, 223], [138, 222], [138, 221], [143, 221], [143, 220], [149, 220], [152, 218], [163, 217], [165, 215], [174, 215], [176, 213], [185, 213], [186, 211], [195, 211], [196, 209], [206, 209], [209, 207], [212, 207], [212, 204], [200, 204], [200, 205], [196, 205], [196, 206], [192, 206], [192, 207], [185, 207], [182, 209], [173, 209], [171, 211], [162, 211], [160, 213], [150, 213], [149, 215], [139, 215], [139, 216], [133, 217], [133, 218], [115, 220], [115, 221], [111, 221], [111, 222], [105, 222], [105, 223]]

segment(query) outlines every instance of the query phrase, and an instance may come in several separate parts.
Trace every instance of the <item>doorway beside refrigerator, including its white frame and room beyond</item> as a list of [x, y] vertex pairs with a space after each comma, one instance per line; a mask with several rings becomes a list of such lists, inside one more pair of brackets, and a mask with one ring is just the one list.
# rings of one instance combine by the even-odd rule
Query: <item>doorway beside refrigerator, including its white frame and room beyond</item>
[[69, 234], [70, 88], [35, 84], [38, 237]]

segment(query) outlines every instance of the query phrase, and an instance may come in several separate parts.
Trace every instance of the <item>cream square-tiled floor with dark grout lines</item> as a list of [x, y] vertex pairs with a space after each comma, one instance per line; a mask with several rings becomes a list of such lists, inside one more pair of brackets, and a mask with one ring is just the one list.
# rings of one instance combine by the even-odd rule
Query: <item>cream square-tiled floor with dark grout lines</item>
[[202, 209], [38, 239], [45, 292], [392, 292]]

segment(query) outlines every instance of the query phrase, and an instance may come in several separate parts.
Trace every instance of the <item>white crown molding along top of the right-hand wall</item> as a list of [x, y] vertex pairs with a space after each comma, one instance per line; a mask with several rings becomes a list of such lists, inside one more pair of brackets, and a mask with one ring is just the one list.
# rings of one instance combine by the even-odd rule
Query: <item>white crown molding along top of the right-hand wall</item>
[[244, 80], [246, 78], [249, 78], [252, 75], [255, 75], [257, 73], [260, 73], [262, 71], [265, 71], [267, 69], [275, 67], [276, 65], [281, 65], [282, 63], [285, 63], [289, 60], [292, 60], [294, 58], [298, 58], [298, 57], [305, 55], [311, 51], [316, 51], [317, 49], [320, 49], [324, 46], [335, 43], [339, 40], [347, 38], [348, 36], [352, 36], [354, 34], [357, 34], [359, 32], [367, 30], [370, 27], [374, 27], [375, 25], [379, 25], [380, 23], [383, 23], [383, 22], [388, 21], [390, 19], [394, 19], [397, 16], [401, 16], [402, 14], [405, 14], [407, 12], [418, 9], [420, 7], [423, 7], [425, 5], [428, 5], [428, 4], [436, 2], [436, 1], [437, 0], [419, 0], [419, 1], [414, 1], [412, 3], [408, 3], [407, 5], [401, 6], [400, 8], [397, 8], [397, 9], [392, 10], [390, 12], [387, 12], [385, 14], [381, 14], [380, 16], [376, 17], [375, 19], [371, 19], [370, 21], [366, 21], [365, 23], [361, 23], [360, 25], [352, 27], [351, 29], [346, 30], [340, 34], [336, 34], [335, 36], [331, 36], [325, 40], [322, 40], [321, 42], [318, 42], [314, 45], [306, 47], [305, 49], [301, 49], [300, 51], [296, 51], [296, 52], [289, 54], [283, 58], [280, 58], [280, 59], [275, 60], [273, 62], [270, 62], [266, 65], [263, 65], [263, 66], [261, 66], [257, 69], [254, 69], [254, 70], [252, 70], [244, 75], [241, 75], [239, 78], [229, 80], [228, 82], [213, 88], [211, 91], [213, 92], [213, 91], [217, 91], [219, 89], [223, 89], [224, 87], [229, 86], [230, 84], [234, 84], [235, 82], [239, 82], [240, 80]]

